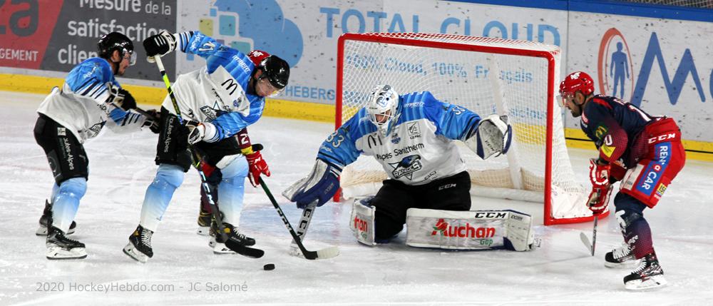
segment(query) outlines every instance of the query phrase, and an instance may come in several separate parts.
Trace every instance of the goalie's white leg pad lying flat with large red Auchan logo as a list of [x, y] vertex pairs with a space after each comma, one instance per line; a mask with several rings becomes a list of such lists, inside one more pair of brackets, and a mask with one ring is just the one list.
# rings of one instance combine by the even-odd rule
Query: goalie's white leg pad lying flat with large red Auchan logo
[[449, 250], [532, 250], [530, 215], [515, 210], [451, 211], [409, 208], [406, 245]]

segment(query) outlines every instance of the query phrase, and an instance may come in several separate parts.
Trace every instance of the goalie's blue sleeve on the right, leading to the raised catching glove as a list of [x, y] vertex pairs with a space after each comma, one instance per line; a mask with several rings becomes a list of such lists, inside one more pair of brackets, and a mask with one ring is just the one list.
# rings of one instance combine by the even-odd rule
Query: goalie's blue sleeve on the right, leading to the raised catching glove
[[481, 117], [455, 104], [443, 103], [426, 92], [424, 94], [424, 115], [436, 125], [436, 135], [465, 141], [472, 135]]

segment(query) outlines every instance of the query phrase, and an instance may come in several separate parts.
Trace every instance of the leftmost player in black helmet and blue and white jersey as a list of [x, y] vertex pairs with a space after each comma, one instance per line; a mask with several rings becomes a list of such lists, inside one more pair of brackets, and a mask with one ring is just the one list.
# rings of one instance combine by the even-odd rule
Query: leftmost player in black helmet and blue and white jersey
[[55, 178], [37, 230], [37, 235], [47, 235], [48, 259], [86, 257], [83, 243], [66, 238], [74, 231], [73, 220], [87, 188], [84, 141], [96, 137], [103, 126], [116, 132], [138, 131], [142, 126], [158, 131], [152, 119], [128, 112], [136, 102], [115, 78], [135, 63], [131, 40], [112, 32], [97, 46], [99, 57], [72, 68], [62, 88], [53, 88], [37, 110], [34, 136]]

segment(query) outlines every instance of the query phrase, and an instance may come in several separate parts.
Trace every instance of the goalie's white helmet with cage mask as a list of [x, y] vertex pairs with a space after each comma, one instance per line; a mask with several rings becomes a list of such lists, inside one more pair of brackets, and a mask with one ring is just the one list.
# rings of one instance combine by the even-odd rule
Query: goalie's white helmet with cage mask
[[389, 85], [379, 85], [371, 91], [369, 102], [366, 103], [366, 113], [369, 120], [379, 128], [379, 133], [386, 136], [391, 127], [399, 120], [399, 93]]

